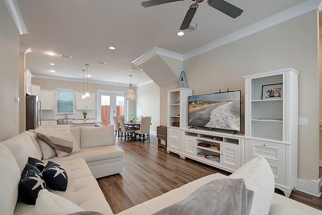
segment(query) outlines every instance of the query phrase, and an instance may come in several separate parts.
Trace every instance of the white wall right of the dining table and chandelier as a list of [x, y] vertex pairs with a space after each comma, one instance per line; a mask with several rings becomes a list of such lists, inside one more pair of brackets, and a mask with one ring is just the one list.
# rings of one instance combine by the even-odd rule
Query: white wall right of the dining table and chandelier
[[160, 125], [159, 87], [155, 83], [151, 83], [137, 87], [135, 93], [135, 114], [137, 116], [151, 116], [150, 134], [156, 135], [156, 126]]

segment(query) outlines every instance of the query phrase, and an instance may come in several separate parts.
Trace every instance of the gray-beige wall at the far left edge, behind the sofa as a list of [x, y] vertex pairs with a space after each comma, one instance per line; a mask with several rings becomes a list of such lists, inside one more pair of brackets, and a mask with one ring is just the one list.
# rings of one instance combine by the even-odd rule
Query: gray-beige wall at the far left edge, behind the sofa
[[[4, 1], [0, 1], [0, 141], [19, 133], [19, 33]], [[19, 119], [18, 119], [19, 120]]]

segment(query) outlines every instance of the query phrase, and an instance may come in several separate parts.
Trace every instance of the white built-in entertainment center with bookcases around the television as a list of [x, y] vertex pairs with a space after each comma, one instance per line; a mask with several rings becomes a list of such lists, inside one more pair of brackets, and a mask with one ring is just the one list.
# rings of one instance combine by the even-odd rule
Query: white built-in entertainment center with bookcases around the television
[[[276, 188], [289, 197], [297, 186], [297, 76], [298, 71], [288, 68], [244, 77], [245, 135], [189, 129], [192, 89], [168, 91], [167, 152], [231, 173], [263, 156], [271, 166]], [[266, 98], [267, 87], [280, 89], [280, 96]]]

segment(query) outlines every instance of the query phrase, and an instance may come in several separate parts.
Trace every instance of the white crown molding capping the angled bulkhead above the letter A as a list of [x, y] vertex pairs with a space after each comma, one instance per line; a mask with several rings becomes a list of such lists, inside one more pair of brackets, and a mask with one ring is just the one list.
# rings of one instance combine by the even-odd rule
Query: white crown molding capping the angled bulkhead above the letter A
[[144, 63], [145, 61], [151, 59], [152, 57], [154, 57], [156, 55], [163, 55], [163, 56], [171, 57], [171, 58], [174, 58], [174, 59], [183, 60], [183, 55], [182, 54], [178, 54], [178, 53], [173, 52], [173, 51], [168, 51], [166, 49], [154, 47], [151, 50], [149, 50], [148, 52], [146, 52], [145, 54], [143, 54], [140, 57], [138, 57], [135, 60], [133, 60], [131, 63], [133, 63], [134, 65], [139, 66], [140, 64]]

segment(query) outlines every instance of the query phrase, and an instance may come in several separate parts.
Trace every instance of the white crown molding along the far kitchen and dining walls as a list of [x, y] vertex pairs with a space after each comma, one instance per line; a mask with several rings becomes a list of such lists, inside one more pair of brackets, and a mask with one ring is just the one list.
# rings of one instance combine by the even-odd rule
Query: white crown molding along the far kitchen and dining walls
[[[28, 69], [29, 70], [29, 69]], [[83, 83], [83, 79], [72, 79], [72, 78], [63, 78], [63, 77], [56, 77], [56, 76], [44, 76], [44, 75], [34, 75], [34, 78], [38, 79], [50, 79], [50, 80], [58, 80], [58, 81], [68, 81], [68, 82], [81, 82]], [[121, 86], [121, 87], [128, 87], [129, 84], [120, 84], [120, 83], [113, 83], [113, 82], [98, 82], [98, 81], [89, 81], [92, 84], [99, 84], [99, 85], [112, 85], [112, 86]], [[133, 85], [133, 87], [139, 87], [146, 84], [153, 83], [153, 81], [142, 82], [137, 85]]]

